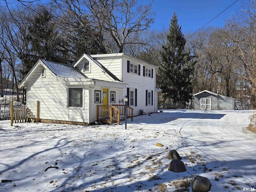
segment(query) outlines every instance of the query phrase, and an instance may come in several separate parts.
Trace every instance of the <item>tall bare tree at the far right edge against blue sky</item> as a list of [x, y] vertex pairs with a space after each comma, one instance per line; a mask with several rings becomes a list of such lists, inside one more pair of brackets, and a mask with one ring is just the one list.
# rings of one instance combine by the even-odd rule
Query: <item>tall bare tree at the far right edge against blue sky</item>
[[232, 20], [232, 40], [251, 86], [251, 109], [256, 109], [256, 3], [247, 0], [239, 19]]

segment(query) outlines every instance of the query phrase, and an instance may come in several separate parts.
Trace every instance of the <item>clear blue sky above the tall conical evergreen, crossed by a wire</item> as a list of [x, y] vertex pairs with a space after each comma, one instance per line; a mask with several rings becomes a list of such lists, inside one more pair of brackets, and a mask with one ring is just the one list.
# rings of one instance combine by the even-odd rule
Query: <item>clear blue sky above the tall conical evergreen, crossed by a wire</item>
[[[236, 0], [154, 0], [152, 9], [155, 11], [155, 22], [152, 29], [169, 28], [174, 11], [178, 16], [178, 24], [182, 32], [195, 32], [200, 29]], [[138, 0], [140, 3], [150, 3], [151, 0]], [[220, 14], [207, 26], [224, 26], [225, 20], [241, 10], [241, 0], [238, 0], [225, 12]], [[206, 27], [207, 27], [206, 26]]]

